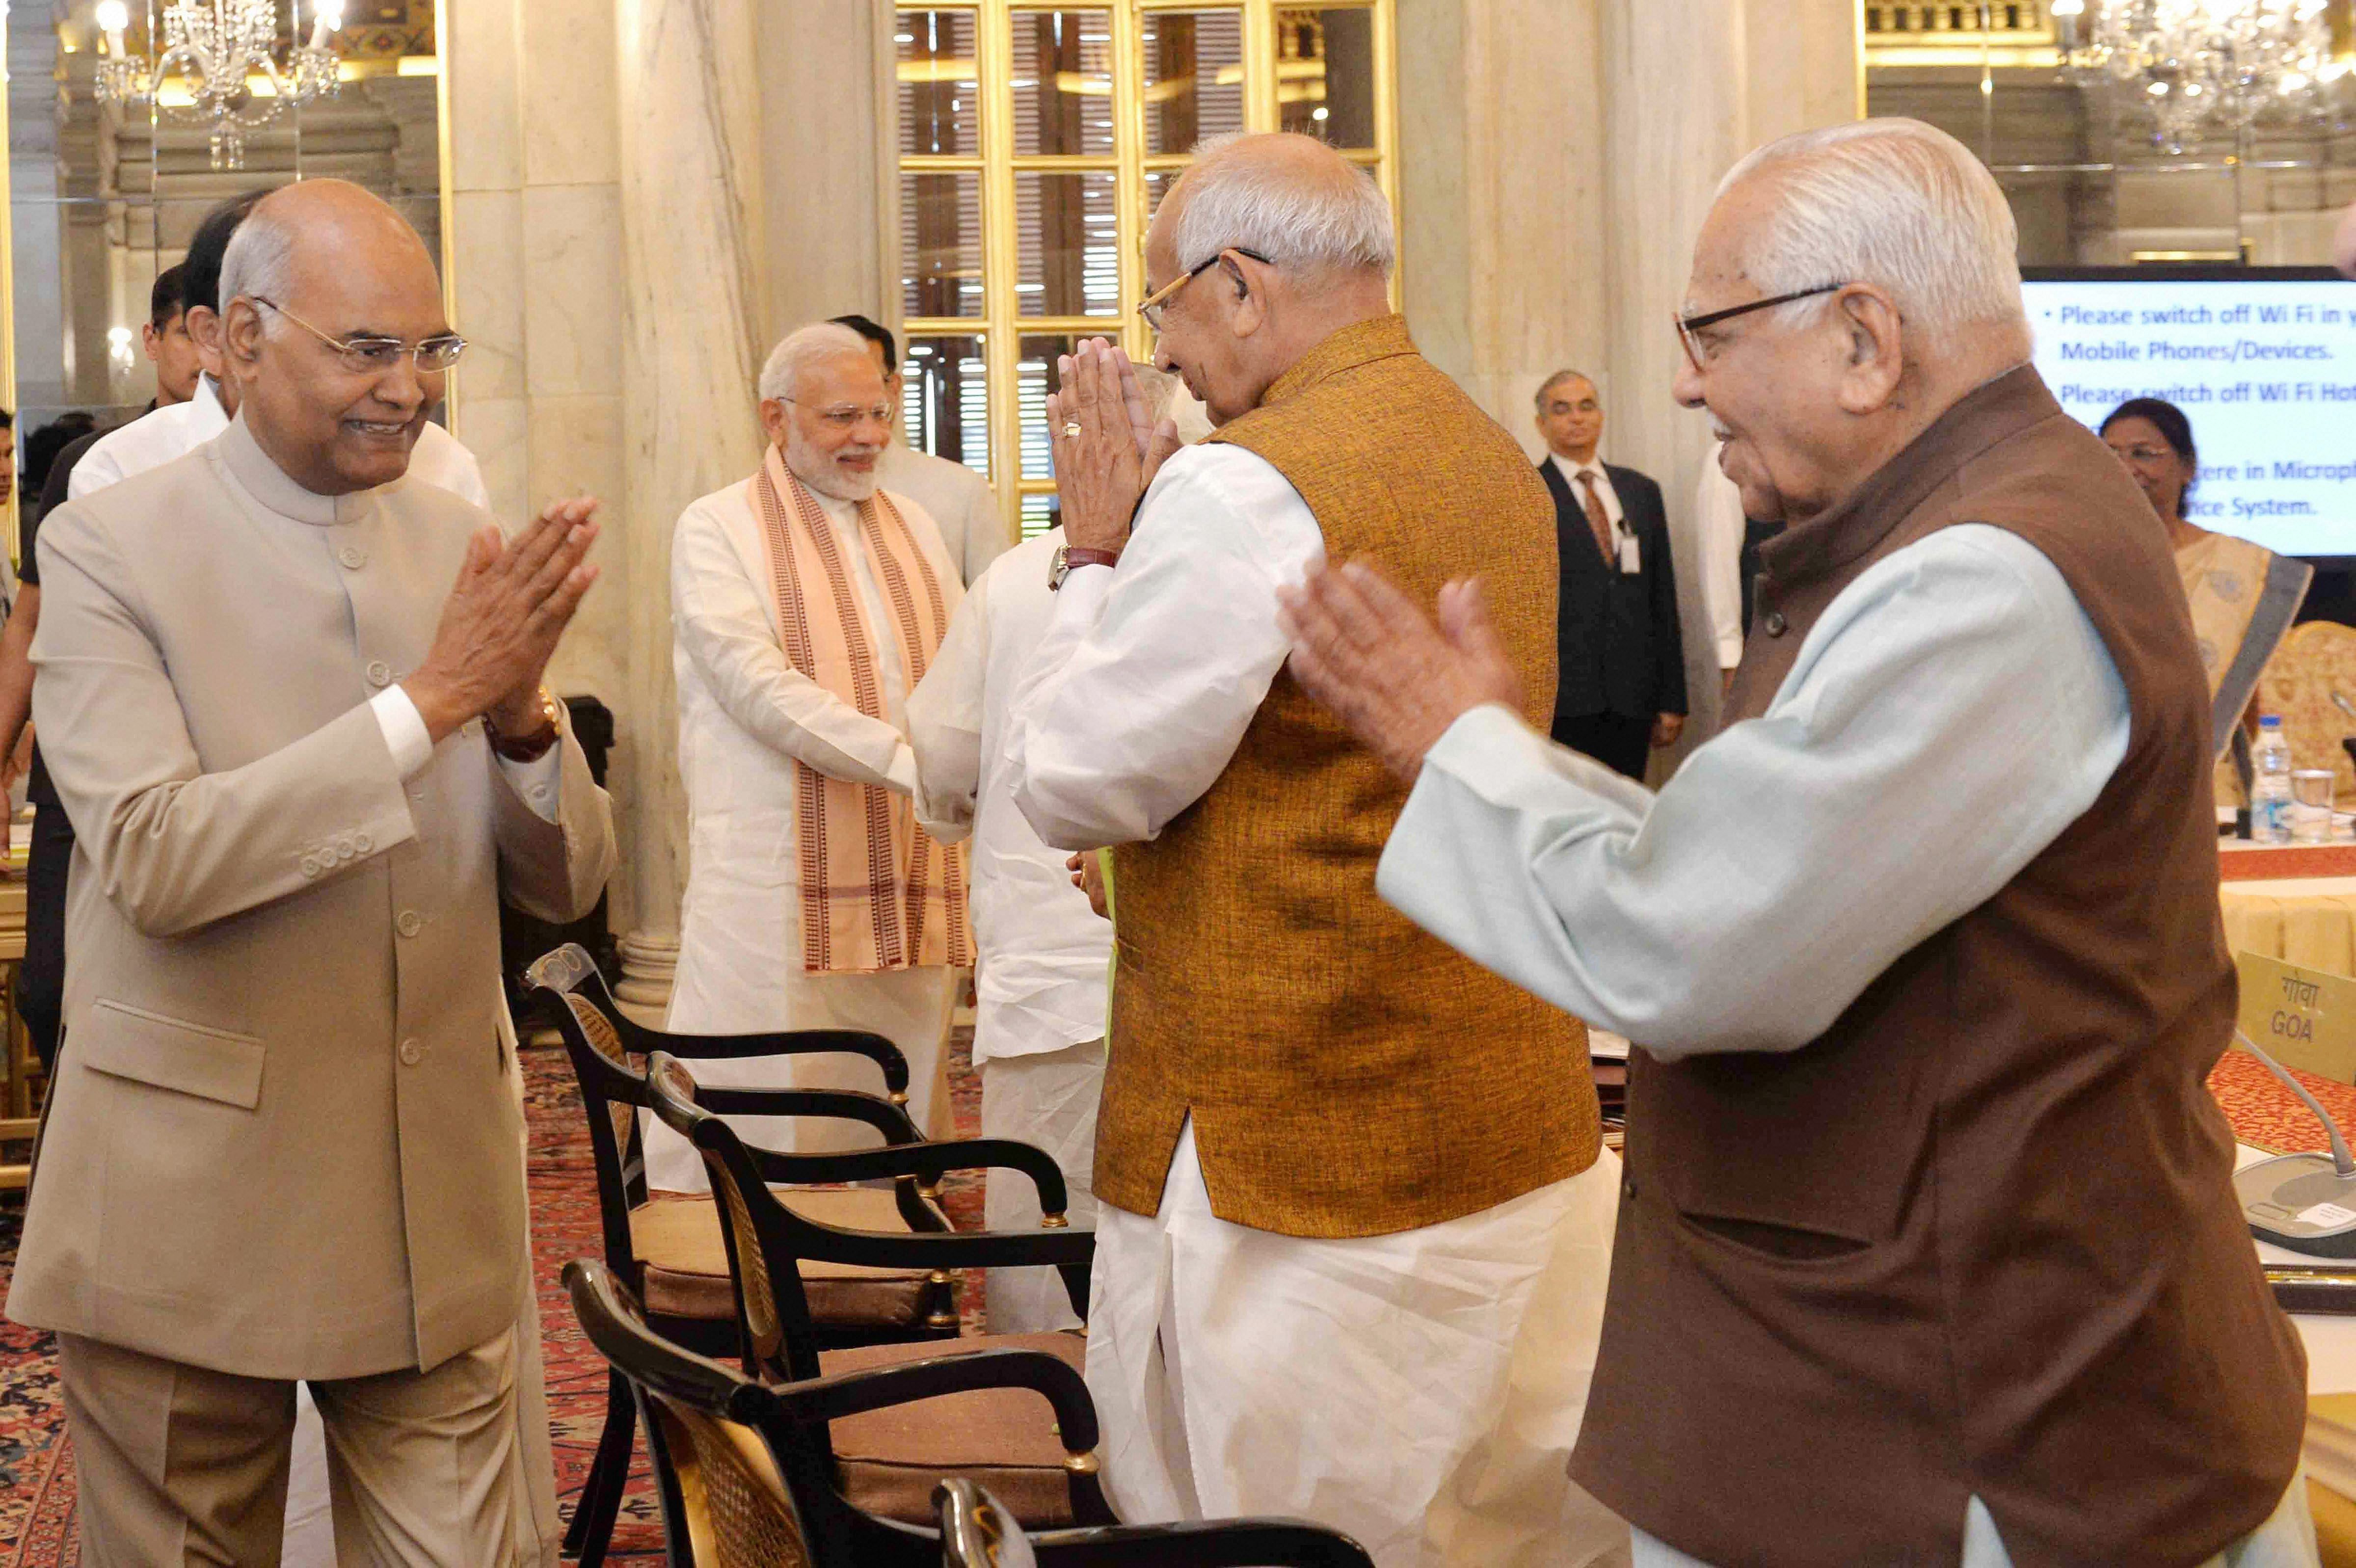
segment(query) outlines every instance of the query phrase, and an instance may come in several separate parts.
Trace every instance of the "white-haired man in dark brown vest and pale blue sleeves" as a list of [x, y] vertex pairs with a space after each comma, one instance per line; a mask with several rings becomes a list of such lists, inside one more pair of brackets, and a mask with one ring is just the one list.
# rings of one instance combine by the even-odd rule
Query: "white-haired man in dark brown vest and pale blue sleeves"
[[2026, 363], [2003, 191], [1913, 120], [1772, 144], [1680, 332], [1791, 527], [1736, 723], [1659, 796], [1508, 711], [1477, 591], [1444, 631], [1364, 565], [1291, 605], [1416, 777], [1383, 897], [1644, 1045], [1579, 1479], [1640, 1568], [2314, 1563], [2304, 1356], [2203, 1088], [2208, 687]]

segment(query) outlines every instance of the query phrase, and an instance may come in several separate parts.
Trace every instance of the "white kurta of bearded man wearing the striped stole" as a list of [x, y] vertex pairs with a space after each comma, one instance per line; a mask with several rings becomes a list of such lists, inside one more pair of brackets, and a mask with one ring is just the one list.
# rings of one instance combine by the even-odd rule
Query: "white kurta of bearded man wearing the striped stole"
[[[867, 629], [876, 638], [884, 718], [867, 718], [785, 657], [777, 603], [754, 518], [752, 480], [690, 504], [671, 534], [671, 669], [679, 678], [679, 775], [688, 789], [688, 892], [679, 918], [679, 982], [667, 1029], [759, 1034], [867, 1029], [907, 1057], [909, 1116], [933, 1107], [954, 972], [945, 965], [881, 975], [808, 975], [801, 968], [801, 859], [794, 833], [794, 763], [834, 779], [916, 789], [907, 746], [907, 680], [858, 509], [818, 497], [834, 527]], [[957, 598], [959, 577], [921, 506], [893, 497], [919, 546]], [[697, 1081], [735, 1088], [858, 1088], [881, 1074], [853, 1057], [697, 1062]], [[876, 1135], [855, 1123], [730, 1118], [773, 1149], [858, 1149]], [[702, 1158], [669, 1128], [648, 1123], [646, 1177], [704, 1191]]]

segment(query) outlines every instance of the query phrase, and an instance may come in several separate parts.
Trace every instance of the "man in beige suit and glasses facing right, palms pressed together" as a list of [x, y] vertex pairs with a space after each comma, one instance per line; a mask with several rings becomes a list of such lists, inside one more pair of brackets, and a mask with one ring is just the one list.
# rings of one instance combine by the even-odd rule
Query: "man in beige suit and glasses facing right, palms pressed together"
[[497, 904], [613, 869], [540, 685], [591, 506], [502, 544], [398, 483], [462, 341], [365, 191], [266, 198], [221, 292], [236, 421], [40, 534], [73, 965], [7, 1309], [59, 1335], [92, 1563], [278, 1561], [297, 1380], [346, 1559], [537, 1559]]

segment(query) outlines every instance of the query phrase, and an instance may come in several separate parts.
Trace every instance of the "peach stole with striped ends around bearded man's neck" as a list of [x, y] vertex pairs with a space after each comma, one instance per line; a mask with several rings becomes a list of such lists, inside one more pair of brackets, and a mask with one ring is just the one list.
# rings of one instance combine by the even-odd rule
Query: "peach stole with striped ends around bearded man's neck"
[[[761, 459], [752, 492], [785, 657], [867, 718], [886, 718], [879, 640], [867, 629], [853, 565], [818, 497], [794, 478], [777, 447]], [[954, 600], [907, 518], [881, 490], [860, 501], [860, 539], [898, 622], [902, 690], [912, 692], [949, 629]], [[966, 850], [916, 826], [907, 796], [881, 784], [829, 779], [796, 758], [794, 838], [806, 972], [872, 975], [973, 963]]]

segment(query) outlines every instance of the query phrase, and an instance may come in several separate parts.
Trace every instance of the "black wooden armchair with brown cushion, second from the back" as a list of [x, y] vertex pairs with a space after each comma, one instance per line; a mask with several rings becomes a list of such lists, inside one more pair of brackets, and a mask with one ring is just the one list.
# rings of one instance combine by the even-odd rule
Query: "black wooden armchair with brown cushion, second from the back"
[[[796, 1215], [777, 1201], [770, 1182], [782, 1170], [780, 1156], [747, 1147], [726, 1121], [697, 1104], [695, 1078], [681, 1062], [657, 1055], [648, 1062], [646, 1081], [655, 1116], [695, 1144], [712, 1172], [712, 1191], [719, 1194], [726, 1220], [747, 1375], [787, 1384], [881, 1370], [938, 1354], [931, 1344], [822, 1351], [801, 1283], [810, 1264], [940, 1271], [1053, 1267], [1063, 1274], [1072, 1309], [1086, 1311], [1096, 1234], [1065, 1224], [1063, 1175], [1044, 1151], [978, 1140], [818, 1156], [839, 1168], [839, 1180], [886, 1175], [879, 1163], [884, 1156], [921, 1161], [933, 1180], [938, 1170], [1013, 1165], [1039, 1184], [1039, 1205], [1046, 1215], [1039, 1231], [860, 1231]], [[1070, 1333], [980, 1335], [959, 1344], [1044, 1351], [1067, 1363], [1074, 1375], [1084, 1354], [1084, 1340]], [[945, 1474], [990, 1483], [1027, 1526], [1112, 1523], [1112, 1509], [1096, 1481], [1096, 1455], [1072, 1443], [1070, 1427], [1058, 1436], [1044, 1417], [1037, 1401], [1015, 1394], [973, 1394], [921, 1413], [876, 1410], [836, 1422], [827, 1434], [829, 1474], [862, 1514], [909, 1526], [933, 1521], [933, 1483]]]

